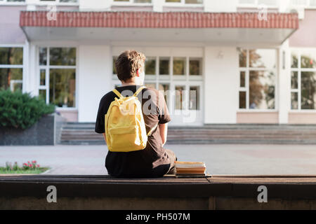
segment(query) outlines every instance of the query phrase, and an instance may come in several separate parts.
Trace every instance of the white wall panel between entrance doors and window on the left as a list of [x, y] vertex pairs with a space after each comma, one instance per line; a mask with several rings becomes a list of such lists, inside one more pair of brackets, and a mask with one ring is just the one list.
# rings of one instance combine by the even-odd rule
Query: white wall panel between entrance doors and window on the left
[[78, 121], [96, 122], [100, 99], [112, 90], [112, 56], [107, 45], [80, 45]]

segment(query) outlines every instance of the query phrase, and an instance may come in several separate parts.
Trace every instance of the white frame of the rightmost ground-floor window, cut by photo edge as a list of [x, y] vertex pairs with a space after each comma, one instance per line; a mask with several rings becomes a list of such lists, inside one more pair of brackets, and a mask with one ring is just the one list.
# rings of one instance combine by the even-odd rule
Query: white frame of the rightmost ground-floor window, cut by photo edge
[[[290, 90], [289, 105], [290, 106], [289, 106], [289, 108], [290, 108], [290, 112], [296, 112], [296, 113], [297, 112], [301, 112], [301, 113], [314, 112], [314, 113], [316, 113], [316, 109], [302, 109], [301, 108], [301, 94], [302, 94], [302, 92], [301, 92], [301, 73], [302, 73], [302, 71], [316, 73], [316, 68], [314, 68], [314, 69], [301, 68], [302, 52], [306, 52], [308, 50], [313, 50], [316, 52], [316, 48], [289, 48], [290, 61], [291, 61], [291, 57], [292, 57], [292, 52], [296, 52], [298, 54], [298, 62], [297, 62], [298, 66], [297, 66], [297, 68], [292, 68], [291, 64], [289, 65], [289, 79], [290, 79], [290, 82], [289, 82], [289, 85], [290, 85], [290, 87], [289, 87], [289, 90]], [[297, 89], [292, 89], [292, 87], [291, 87], [291, 73], [292, 73], [292, 71], [297, 71], [297, 84], [298, 84]], [[292, 109], [292, 107], [291, 107], [291, 104], [292, 104], [291, 93], [292, 92], [297, 92], [297, 94], [298, 94], [298, 97], [297, 97], [298, 98], [297, 99], [298, 100], [298, 109]]]

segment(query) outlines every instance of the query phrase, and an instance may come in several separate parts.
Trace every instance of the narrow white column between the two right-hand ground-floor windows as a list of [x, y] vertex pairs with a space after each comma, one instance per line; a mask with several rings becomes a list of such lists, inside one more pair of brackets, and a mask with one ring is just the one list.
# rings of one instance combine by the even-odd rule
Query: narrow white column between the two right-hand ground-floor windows
[[278, 50], [279, 55], [279, 123], [287, 124], [289, 120], [289, 111], [291, 109], [291, 52], [289, 50], [289, 41], [285, 41]]

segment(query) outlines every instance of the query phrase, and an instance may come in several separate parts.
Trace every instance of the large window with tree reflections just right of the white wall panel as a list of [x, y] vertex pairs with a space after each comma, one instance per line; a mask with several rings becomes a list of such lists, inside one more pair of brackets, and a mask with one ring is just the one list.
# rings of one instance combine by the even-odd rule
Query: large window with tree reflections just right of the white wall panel
[[275, 109], [276, 50], [239, 49], [239, 109]]

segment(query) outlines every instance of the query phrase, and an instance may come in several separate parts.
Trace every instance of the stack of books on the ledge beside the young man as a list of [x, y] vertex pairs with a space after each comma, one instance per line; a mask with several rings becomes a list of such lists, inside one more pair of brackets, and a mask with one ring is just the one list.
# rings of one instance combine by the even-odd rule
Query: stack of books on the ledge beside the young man
[[206, 166], [204, 162], [180, 162], [176, 161], [176, 176], [205, 176]]

